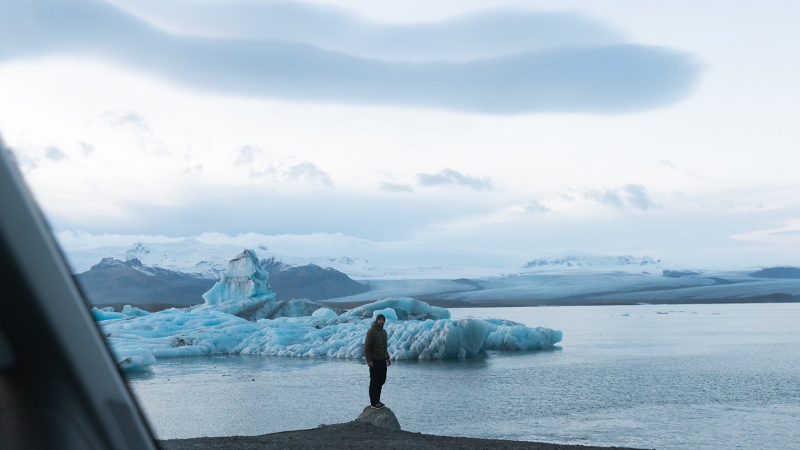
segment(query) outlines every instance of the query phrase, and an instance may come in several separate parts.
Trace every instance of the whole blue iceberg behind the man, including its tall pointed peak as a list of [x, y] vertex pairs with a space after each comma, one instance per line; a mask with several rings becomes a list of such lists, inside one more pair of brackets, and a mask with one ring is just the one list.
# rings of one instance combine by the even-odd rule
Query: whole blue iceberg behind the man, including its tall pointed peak
[[[450, 319], [450, 311], [413, 298], [383, 298], [347, 312], [307, 299], [275, 302], [268, 274], [246, 250], [209, 292], [203, 305], [151, 314], [99, 311], [118, 365], [142, 370], [158, 358], [241, 354], [359, 359], [373, 317], [387, 317], [393, 359], [445, 359], [484, 350], [543, 350], [560, 331], [500, 319]], [[111, 316], [113, 315], [113, 316]], [[117, 319], [117, 320], [110, 320]]]

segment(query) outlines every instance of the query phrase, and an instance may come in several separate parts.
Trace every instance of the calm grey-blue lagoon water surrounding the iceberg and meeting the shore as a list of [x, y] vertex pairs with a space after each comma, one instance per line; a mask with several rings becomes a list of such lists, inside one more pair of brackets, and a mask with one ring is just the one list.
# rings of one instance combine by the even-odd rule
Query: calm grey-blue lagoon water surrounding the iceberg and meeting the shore
[[[546, 352], [392, 365], [382, 400], [405, 430], [658, 449], [800, 449], [800, 304], [452, 313], [560, 329], [564, 341]], [[151, 374], [132, 375], [131, 386], [157, 436], [169, 439], [349, 421], [368, 404], [368, 381], [356, 361], [217, 356], [161, 360]]]

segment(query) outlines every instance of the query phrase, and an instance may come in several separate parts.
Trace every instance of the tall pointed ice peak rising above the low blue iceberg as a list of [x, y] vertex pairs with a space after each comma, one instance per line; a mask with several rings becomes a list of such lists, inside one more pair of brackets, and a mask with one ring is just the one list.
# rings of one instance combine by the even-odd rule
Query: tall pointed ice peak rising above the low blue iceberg
[[256, 304], [275, 300], [267, 284], [269, 274], [259, 266], [255, 251], [245, 250], [228, 263], [217, 284], [203, 294], [205, 304], [196, 309], [214, 309], [236, 314]]

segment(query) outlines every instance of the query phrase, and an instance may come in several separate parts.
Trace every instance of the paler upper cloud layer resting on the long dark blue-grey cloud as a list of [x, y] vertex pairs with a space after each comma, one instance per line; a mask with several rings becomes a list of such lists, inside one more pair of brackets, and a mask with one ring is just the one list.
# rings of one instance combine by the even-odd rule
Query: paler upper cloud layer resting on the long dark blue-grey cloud
[[376, 23], [346, 8], [298, 1], [123, 0], [122, 4], [181, 34], [297, 42], [389, 61], [464, 61], [624, 40], [617, 30], [570, 12], [504, 8], [436, 22]]

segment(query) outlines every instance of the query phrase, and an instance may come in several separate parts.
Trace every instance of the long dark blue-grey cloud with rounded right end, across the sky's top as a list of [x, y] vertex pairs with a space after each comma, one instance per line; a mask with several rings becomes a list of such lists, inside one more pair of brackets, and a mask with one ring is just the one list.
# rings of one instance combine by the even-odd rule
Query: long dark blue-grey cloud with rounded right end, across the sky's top
[[[678, 101], [690, 93], [699, 74], [698, 65], [686, 53], [622, 43], [610, 38], [613, 33], [601, 31], [576, 32], [583, 37], [570, 45], [534, 45], [537, 39], [568, 42], [564, 39], [570, 33], [562, 33], [559, 40], [553, 36], [561, 32], [553, 31], [536, 39], [519, 40], [528, 42], [522, 47], [509, 46], [514, 36], [536, 28], [533, 25], [537, 23], [548, 24], [553, 30], [562, 22], [572, 23], [571, 28], [576, 30], [591, 28], [587, 25], [590, 22], [569, 19], [568, 15], [529, 13], [514, 19], [513, 14], [489, 11], [481, 13], [483, 18], [418, 25], [429, 29], [429, 35], [438, 36], [436, 42], [442, 42], [437, 50], [440, 53], [432, 55], [452, 51], [454, 60], [393, 61], [380, 55], [400, 55], [401, 50], [413, 54], [426, 44], [420, 38], [414, 41], [417, 44], [403, 47], [404, 39], [414, 35], [413, 27], [397, 32], [386, 25], [371, 24], [369, 29], [382, 30], [379, 34], [386, 38], [375, 54], [367, 55], [347, 46], [336, 50], [318, 46], [342, 31], [335, 27], [310, 28], [304, 33], [316, 33], [316, 37], [305, 41], [292, 35], [233, 39], [169, 33], [98, 0], [8, 0], [4, 6], [6, 13], [0, 15], [0, 42], [4, 43], [0, 60], [93, 56], [181, 85], [245, 96], [489, 114], [621, 113]], [[318, 22], [325, 22], [327, 16], [318, 17]], [[513, 27], [516, 31], [499, 37], [506, 32], [504, 24], [514, 20], [519, 21]], [[599, 25], [595, 28], [604, 29]], [[494, 36], [485, 53], [492, 56], [475, 58], [475, 54], [459, 53], [462, 46], [452, 41], [453, 36], [470, 33], [476, 36], [470, 42], [480, 42], [480, 36]], [[466, 57], [473, 59], [460, 59]]]

